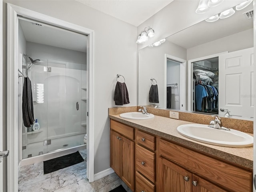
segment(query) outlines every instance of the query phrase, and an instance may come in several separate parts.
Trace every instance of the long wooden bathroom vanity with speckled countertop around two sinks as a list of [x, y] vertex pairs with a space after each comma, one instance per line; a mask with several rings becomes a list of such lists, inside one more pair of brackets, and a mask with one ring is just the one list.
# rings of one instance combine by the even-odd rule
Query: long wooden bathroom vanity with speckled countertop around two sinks
[[136, 192], [252, 192], [253, 148], [178, 134], [183, 120], [110, 117], [110, 166]]

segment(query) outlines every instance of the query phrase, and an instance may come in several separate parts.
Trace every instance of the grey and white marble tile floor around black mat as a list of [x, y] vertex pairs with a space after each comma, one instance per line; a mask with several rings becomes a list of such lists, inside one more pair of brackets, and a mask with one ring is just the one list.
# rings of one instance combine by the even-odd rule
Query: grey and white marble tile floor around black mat
[[127, 192], [131, 192], [116, 173], [89, 183], [86, 178], [86, 150], [79, 152], [84, 162], [48, 174], [44, 174], [43, 162], [22, 166], [18, 174], [18, 191], [108, 192], [122, 184]]

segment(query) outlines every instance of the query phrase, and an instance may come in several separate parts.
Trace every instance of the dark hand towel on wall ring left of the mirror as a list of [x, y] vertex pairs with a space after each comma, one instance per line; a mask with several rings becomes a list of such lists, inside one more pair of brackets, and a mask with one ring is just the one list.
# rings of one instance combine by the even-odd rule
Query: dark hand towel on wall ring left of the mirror
[[114, 94], [114, 101], [116, 105], [123, 105], [130, 103], [128, 90], [125, 83], [117, 82]]

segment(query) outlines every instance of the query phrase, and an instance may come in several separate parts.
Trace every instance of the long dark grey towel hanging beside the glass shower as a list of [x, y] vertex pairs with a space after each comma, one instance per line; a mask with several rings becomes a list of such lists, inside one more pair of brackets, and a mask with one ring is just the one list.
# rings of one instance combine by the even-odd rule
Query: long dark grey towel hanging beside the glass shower
[[28, 77], [24, 78], [22, 93], [22, 116], [25, 127], [30, 127], [34, 123], [34, 108], [31, 81]]

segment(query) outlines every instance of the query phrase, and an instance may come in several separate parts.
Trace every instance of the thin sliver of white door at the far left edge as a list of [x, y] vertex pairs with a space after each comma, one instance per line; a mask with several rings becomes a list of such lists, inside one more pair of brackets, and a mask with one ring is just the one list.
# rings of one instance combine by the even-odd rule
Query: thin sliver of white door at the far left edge
[[[3, 0], [0, 0], [0, 151], [4, 150], [3, 135]], [[0, 163], [0, 191], [4, 191], [4, 169]]]

